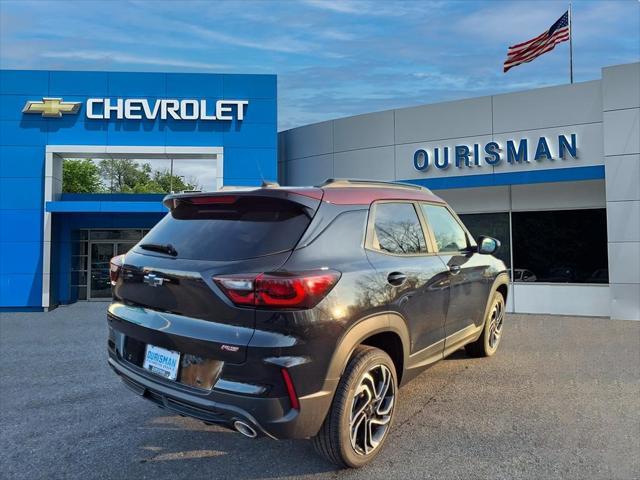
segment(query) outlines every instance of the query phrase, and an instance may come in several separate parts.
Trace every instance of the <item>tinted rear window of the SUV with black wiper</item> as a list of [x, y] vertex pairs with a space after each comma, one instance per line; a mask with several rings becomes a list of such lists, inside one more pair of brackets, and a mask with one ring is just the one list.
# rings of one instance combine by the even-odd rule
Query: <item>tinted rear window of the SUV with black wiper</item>
[[[269, 197], [239, 197], [231, 204], [183, 201], [138, 244], [170, 244], [177, 258], [242, 260], [291, 250], [311, 221], [297, 203]], [[157, 253], [154, 253], [157, 254]]]

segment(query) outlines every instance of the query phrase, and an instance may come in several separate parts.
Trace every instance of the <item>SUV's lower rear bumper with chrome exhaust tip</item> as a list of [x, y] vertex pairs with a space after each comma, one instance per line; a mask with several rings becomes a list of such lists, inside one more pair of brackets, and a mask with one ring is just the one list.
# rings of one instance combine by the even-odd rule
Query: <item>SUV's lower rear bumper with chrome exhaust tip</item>
[[[318, 432], [324, 421], [332, 388], [300, 397], [299, 409], [291, 408], [288, 396], [267, 396], [255, 384], [243, 383], [237, 378], [232, 382], [221, 377], [211, 390], [195, 389], [154, 375], [127, 361], [123, 357], [126, 336], [144, 341], [145, 333], [150, 332], [122, 318], [115, 319], [113, 315], [109, 315], [109, 320], [109, 365], [131, 390], [160, 407], [228, 428], [233, 428], [233, 423], [240, 420], [251, 425], [258, 434], [276, 439], [308, 438]], [[153, 332], [154, 335], [159, 333]], [[237, 370], [238, 366], [234, 367]], [[247, 368], [251, 369], [250, 366]], [[275, 372], [279, 375], [279, 369]]]

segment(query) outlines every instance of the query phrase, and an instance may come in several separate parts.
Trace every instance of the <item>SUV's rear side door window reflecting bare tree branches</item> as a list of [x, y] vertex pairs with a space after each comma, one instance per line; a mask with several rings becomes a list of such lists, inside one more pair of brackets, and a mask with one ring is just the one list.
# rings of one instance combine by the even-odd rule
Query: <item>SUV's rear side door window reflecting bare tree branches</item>
[[412, 204], [376, 205], [373, 248], [395, 254], [427, 251], [422, 226]]

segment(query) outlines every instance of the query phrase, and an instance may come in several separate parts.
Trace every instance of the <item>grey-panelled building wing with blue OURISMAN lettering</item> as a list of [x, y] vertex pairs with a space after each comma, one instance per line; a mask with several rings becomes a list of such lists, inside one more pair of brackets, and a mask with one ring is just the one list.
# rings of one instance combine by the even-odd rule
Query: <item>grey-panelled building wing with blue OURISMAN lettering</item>
[[502, 242], [509, 308], [640, 320], [640, 63], [281, 132], [279, 177], [411, 182]]

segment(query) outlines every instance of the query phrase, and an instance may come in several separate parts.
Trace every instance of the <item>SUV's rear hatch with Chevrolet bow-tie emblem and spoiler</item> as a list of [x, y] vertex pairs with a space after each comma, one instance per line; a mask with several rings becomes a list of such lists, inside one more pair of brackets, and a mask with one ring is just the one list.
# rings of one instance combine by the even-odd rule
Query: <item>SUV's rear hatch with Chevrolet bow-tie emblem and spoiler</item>
[[112, 317], [144, 327], [141, 341], [243, 361], [255, 310], [233, 305], [213, 277], [278, 270], [321, 198], [319, 189], [166, 197], [170, 212], [124, 258]]

